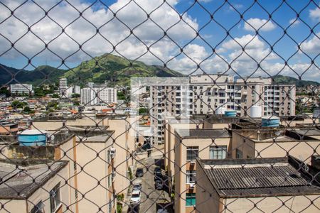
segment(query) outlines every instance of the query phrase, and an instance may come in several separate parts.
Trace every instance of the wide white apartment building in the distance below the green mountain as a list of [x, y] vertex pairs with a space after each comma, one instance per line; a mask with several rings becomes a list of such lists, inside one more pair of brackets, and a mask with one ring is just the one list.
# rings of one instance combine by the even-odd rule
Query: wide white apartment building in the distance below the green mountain
[[81, 104], [92, 106], [117, 102], [117, 89], [107, 87], [107, 84], [89, 82], [87, 85], [80, 90]]

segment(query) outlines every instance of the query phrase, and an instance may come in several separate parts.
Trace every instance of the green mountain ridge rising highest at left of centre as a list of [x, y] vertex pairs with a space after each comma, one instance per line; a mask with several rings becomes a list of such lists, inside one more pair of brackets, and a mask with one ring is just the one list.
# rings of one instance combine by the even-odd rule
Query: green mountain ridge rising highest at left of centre
[[[67, 77], [68, 82], [82, 86], [87, 82], [103, 83], [105, 80], [110, 82], [111, 85], [129, 85], [130, 77], [183, 76], [181, 73], [166, 67], [146, 65], [144, 62], [127, 60], [116, 55], [105, 54], [82, 62], [70, 70], [59, 70], [50, 66], [40, 66], [35, 70], [26, 71], [0, 65], [0, 84], [10, 82], [12, 73], [13, 75], [17, 74], [16, 80], [18, 80], [18, 82], [38, 85], [45, 81], [45, 75], [43, 75], [42, 72], [45, 74], [50, 73], [50, 75], [48, 75], [49, 82], [55, 83], [58, 82], [60, 77]], [[46, 84], [46, 82], [43, 83]]]

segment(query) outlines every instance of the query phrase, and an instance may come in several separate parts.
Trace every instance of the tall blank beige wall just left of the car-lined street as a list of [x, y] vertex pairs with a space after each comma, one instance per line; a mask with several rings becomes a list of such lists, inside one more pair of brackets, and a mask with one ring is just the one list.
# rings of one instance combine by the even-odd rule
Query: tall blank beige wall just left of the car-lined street
[[[107, 155], [109, 143], [77, 143], [78, 207], [80, 212], [108, 212], [111, 200], [106, 190], [108, 170]], [[97, 157], [99, 153], [99, 158]], [[81, 169], [82, 168], [82, 169]], [[82, 199], [82, 195], [85, 197]]]

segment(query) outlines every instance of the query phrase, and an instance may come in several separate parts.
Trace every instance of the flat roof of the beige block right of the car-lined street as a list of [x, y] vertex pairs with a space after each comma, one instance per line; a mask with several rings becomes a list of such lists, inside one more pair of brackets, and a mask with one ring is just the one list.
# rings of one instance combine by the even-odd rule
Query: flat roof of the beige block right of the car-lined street
[[176, 129], [176, 133], [183, 139], [231, 137], [231, 134], [227, 129]]

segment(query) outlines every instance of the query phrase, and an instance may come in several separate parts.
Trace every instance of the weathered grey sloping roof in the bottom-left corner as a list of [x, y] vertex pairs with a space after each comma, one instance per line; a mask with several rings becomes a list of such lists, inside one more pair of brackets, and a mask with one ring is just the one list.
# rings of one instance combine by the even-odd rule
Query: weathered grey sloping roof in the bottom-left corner
[[0, 199], [28, 198], [67, 164], [67, 161], [0, 160]]

